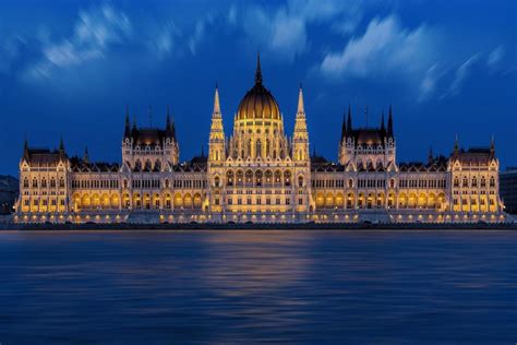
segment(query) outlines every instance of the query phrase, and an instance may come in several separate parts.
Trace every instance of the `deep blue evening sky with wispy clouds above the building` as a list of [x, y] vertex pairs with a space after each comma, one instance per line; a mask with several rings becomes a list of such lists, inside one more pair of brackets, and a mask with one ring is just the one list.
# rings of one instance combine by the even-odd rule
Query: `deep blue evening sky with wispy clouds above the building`
[[127, 106], [145, 127], [170, 106], [180, 159], [206, 152], [215, 84], [230, 135], [257, 51], [288, 135], [303, 84], [311, 152], [337, 159], [348, 105], [362, 127], [392, 105], [398, 162], [493, 136], [517, 166], [514, 0], [4, 0], [0, 175], [17, 175], [25, 139], [120, 162]]

